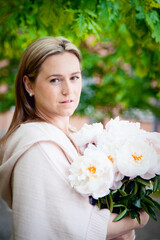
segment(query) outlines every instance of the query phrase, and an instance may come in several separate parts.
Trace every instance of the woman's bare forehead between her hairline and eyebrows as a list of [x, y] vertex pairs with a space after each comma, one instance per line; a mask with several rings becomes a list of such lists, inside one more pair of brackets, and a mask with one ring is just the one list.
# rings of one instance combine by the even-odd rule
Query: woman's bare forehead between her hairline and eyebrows
[[45, 73], [70, 73], [80, 71], [80, 61], [76, 55], [69, 52], [58, 53], [49, 56], [41, 66], [41, 71]]

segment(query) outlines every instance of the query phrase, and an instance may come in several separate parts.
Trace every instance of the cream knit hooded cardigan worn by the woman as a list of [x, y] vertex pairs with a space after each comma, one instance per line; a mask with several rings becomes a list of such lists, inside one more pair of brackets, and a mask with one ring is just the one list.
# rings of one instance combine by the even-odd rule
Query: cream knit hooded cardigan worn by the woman
[[6, 145], [0, 195], [12, 208], [15, 240], [103, 240], [110, 212], [68, 181], [77, 151], [48, 123], [22, 124]]

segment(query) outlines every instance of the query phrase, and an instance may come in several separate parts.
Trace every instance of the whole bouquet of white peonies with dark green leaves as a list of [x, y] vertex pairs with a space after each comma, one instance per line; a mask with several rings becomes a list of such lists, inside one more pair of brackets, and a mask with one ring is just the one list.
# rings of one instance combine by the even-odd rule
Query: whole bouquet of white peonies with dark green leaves
[[111, 119], [85, 124], [70, 135], [81, 155], [73, 161], [69, 180], [81, 194], [90, 196], [100, 209], [129, 215], [140, 222], [144, 209], [156, 220], [160, 204], [150, 194], [160, 186], [160, 133], [140, 129], [140, 123]]

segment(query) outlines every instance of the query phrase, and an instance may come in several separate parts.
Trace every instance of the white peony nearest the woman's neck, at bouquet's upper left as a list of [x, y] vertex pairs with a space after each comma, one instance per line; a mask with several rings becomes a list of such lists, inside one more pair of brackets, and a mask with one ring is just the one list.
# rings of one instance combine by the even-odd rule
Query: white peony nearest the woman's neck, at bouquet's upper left
[[83, 153], [89, 143], [97, 144], [97, 138], [102, 132], [102, 123], [84, 124], [80, 131], [70, 134], [70, 137]]

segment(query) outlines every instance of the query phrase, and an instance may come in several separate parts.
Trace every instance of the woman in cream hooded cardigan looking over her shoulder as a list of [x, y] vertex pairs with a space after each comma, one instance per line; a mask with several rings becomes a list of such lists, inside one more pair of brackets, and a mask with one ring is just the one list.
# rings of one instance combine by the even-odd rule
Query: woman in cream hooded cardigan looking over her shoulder
[[69, 139], [69, 117], [81, 93], [79, 50], [63, 37], [33, 42], [16, 78], [16, 107], [1, 140], [0, 194], [13, 213], [15, 240], [134, 239], [148, 215], [113, 223], [71, 188], [70, 163], [78, 149]]

